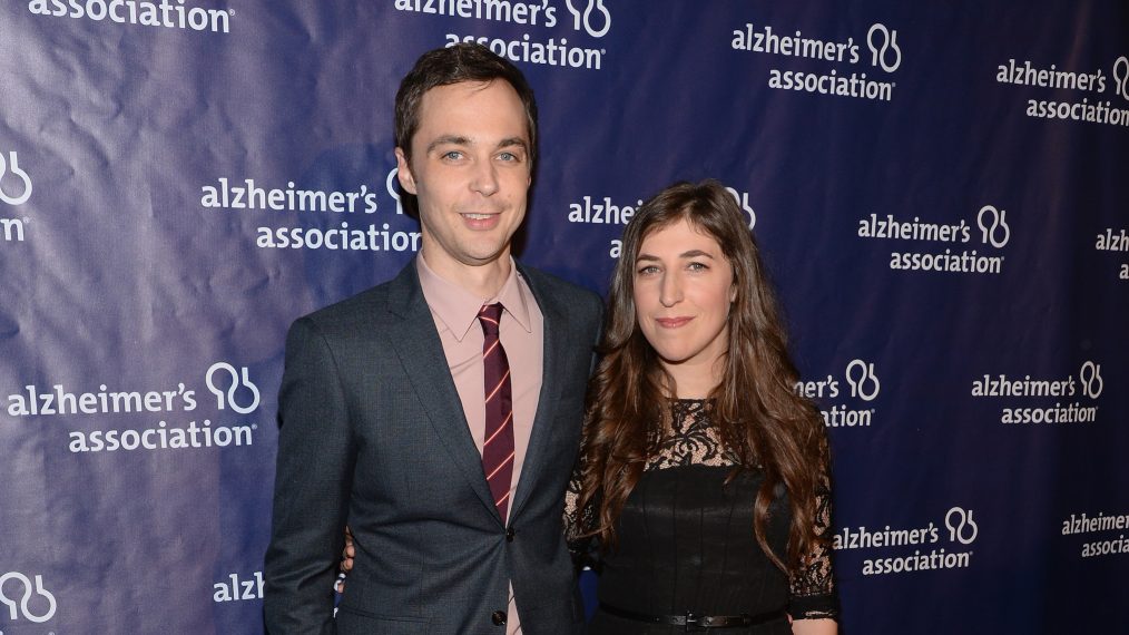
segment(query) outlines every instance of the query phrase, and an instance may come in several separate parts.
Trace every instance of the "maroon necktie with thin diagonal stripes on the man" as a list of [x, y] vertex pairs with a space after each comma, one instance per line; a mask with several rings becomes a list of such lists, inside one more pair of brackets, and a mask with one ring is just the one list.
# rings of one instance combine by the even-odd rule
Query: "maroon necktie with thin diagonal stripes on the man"
[[509, 385], [509, 360], [498, 339], [501, 304], [488, 304], [479, 311], [485, 339], [482, 365], [485, 381], [487, 427], [482, 444], [482, 471], [490, 484], [495, 506], [502, 522], [509, 510], [509, 486], [514, 476], [514, 399]]

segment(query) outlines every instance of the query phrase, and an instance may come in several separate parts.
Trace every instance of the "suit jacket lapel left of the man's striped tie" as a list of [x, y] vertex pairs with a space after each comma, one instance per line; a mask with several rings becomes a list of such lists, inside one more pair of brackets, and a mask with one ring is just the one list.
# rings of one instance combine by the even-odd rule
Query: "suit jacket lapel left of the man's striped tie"
[[[458, 399], [458, 390], [450, 377], [435, 319], [423, 298], [414, 260], [392, 281], [388, 311], [400, 318], [388, 329], [388, 341], [395, 349], [415, 395], [423, 405], [436, 435], [474, 494], [499, 517], [490, 487], [482, 473], [482, 456], [471, 437], [463, 402]], [[499, 517], [499, 522], [500, 520]]]

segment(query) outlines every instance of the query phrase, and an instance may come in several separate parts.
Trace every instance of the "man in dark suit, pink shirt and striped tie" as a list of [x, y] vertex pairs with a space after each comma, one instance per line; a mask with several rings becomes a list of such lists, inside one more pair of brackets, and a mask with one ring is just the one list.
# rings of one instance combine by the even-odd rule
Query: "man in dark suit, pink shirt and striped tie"
[[[575, 633], [561, 511], [601, 303], [510, 256], [533, 93], [482, 46], [432, 51], [400, 86], [395, 128], [420, 253], [290, 329], [268, 628]], [[347, 523], [356, 557], [334, 620]]]

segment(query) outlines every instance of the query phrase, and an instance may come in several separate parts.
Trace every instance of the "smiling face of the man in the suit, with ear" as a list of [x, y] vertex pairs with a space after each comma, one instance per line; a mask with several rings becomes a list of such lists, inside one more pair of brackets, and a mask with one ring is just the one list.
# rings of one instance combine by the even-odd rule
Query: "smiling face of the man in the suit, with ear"
[[457, 277], [509, 256], [531, 181], [525, 110], [504, 80], [439, 86], [420, 101], [411, 164], [396, 148], [400, 184], [419, 200], [423, 258]]

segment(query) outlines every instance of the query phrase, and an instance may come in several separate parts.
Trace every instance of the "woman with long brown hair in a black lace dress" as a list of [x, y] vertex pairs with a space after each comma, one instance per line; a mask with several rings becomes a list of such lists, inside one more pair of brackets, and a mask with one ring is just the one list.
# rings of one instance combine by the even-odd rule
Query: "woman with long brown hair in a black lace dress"
[[785, 339], [720, 183], [639, 208], [567, 499], [570, 545], [602, 572], [590, 633], [837, 632], [826, 435]]

